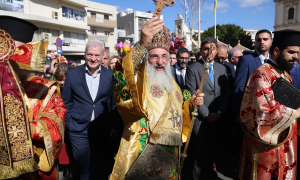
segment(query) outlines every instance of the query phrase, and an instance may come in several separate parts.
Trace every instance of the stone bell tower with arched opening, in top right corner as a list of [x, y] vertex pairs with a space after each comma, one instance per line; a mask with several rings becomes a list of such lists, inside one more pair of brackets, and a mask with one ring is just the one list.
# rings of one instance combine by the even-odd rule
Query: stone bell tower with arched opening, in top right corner
[[274, 0], [275, 25], [274, 30], [293, 29], [300, 31], [299, 0]]

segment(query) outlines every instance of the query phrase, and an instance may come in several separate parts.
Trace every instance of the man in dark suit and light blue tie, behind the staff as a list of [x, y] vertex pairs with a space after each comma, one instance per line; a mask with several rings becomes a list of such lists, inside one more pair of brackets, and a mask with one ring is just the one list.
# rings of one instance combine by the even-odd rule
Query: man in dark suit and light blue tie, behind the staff
[[198, 108], [199, 115], [195, 119], [188, 157], [183, 166], [182, 179], [198, 180], [203, 177], [202, 172], [209, 172], [216, 176], [216, 172], [213, 171], [214, 157], [217, 153], [217, 143], [215, 142], [216, 138], [219, 138], [217, 131], [220, 116], [226, 111], [230, 96], [226, 68], [214, 62], [217, 54], [216, 39], [207, 37], [201, 42], [202, 59], [187, 68], [186, 87], [192, 94], [200, 87], [204, 72], [204, 59], [209, 56], [211, 44], [213, 44], [214, 49], [209, 59], [210, 69], [207, 72], [202, 91], [205, 94], [204, 104]]

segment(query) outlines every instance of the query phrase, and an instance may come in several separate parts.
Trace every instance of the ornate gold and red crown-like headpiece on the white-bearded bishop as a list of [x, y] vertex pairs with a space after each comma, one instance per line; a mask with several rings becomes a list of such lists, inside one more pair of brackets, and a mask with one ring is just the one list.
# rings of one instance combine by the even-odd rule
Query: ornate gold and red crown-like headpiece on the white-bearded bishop
[[171, 47], [172, 36], [168, 28], [164, 27], [161, 31], [154, 35], [150, 49], [162, 48], [169, 52]]

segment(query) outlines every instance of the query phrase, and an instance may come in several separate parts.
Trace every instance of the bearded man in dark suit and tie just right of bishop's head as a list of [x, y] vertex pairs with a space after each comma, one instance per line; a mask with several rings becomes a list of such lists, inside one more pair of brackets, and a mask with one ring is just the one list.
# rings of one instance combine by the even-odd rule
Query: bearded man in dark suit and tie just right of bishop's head
[[189, 57], [189, 50], [180, 48], [176, 54], [177, 62], [171, 66], [173, 78], [181, 89], [185, 89], [185, 75]]

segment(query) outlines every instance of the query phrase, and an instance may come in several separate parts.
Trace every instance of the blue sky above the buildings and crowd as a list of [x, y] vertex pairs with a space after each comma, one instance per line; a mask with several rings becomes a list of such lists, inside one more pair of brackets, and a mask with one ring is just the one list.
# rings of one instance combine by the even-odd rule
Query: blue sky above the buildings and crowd
[[[150, 11], [153, 13], [153, 0], [93, 0], [95, 2], [117, 6], [118, 11], [132, 8], [134, 11]], [[207, 30], [214, 25], [214, 0], [205, 0], [201, 5], [201, 30]], [[184, 17], [184, 10], [175, 0], [173, 7], [162, 11], [165, 26], [175, 30], [175, 19], [178, 13]], [[218, 0], [217, 24], [236, 24], [245, 29], [268, 29], [273, 31], [275, 18], [275, 3], [273, 0]], [[194, 29], [198, 29], [198, 15]]]

